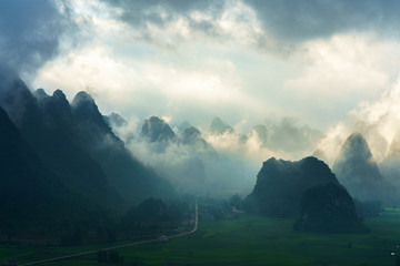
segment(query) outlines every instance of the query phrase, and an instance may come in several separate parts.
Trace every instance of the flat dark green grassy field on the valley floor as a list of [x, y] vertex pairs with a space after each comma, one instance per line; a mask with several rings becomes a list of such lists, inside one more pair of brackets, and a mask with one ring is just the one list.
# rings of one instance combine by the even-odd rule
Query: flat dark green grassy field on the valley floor
[[[234, 221], [202, 222], [193, 235], [118, 249], [124, 265], [396, 265], [400, 211], [369, 218], [371, 234], [309, 234], [292, 231], [293, 221], [243, 215]], [[51, 253], [71, 250], [58, 248]], [[81, 248], [80, 248], [81, 249]], [[21, 262], [32, 250], [12, 249]], [[46, 250], [46, 249], [43, 249]], [[8, 250], [10, 252], [10, 250]], [[400, 252], [400, 249], [399, 249]], [[0, 249], [0, 256], [4, 248]], [[39, 255], [43, 256], [43, 252]], [[39, 257], [38, 254], [34, 258]], [[96, 256], [46, 265], [99, 265]]]

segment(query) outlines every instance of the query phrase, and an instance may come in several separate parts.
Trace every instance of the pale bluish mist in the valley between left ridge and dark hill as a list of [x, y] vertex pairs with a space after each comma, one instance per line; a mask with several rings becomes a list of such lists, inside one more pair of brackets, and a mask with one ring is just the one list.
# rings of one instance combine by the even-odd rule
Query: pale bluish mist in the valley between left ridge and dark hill
[[257, 170], [246, 162], [196, 142], [149, 142], [140, 134], [140, 124], [133, 119], [127, 126], [114, 126], [113, 131], [138, 160], [168, 177], [178, 190], [218, 196], [230, 196], [234, 192], [246, 195], [251, 191]]

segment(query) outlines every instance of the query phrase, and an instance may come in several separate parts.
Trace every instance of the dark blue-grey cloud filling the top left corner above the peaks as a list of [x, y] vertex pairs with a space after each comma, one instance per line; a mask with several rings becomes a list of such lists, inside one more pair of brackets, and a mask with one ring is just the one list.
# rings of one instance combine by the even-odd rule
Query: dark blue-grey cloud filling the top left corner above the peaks
[[[67, 8], [61, 1], [59, 4]], [[59, 48], [66, 12], [61, 14], [51, 0], [0, 1], [1, 63], [31, 72], [52, 58]]]

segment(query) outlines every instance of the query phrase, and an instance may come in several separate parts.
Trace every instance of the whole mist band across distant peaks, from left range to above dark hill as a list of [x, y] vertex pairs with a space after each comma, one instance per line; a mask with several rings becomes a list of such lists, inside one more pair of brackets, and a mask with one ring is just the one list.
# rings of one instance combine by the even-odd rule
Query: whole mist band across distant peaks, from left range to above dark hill
[[[116, 114], [104, 117], [138, 160], [167, 176], [180, 192], [197, 195], [246, 196], [263, 161], [311, 155], [322, 136], [290, 117], [278, 120], [278, 124], [268, 120], [267, 125], [257, 125], [248, 133], [239, 133], [239, 126], [231, 127], [220, 119], [210, 127], [197, 129], [189, 122], [170, 127], [168, 117], [162, 116], [124, 122]], [[263, 135], [257, 131], [260, 126]]]

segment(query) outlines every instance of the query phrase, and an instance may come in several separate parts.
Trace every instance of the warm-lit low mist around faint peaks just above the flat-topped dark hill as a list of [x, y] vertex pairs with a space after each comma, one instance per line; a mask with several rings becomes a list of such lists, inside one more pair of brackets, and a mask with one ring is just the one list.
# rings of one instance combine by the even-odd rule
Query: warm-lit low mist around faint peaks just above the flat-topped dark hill
[[[242, 126], [241, 123], [238, 124]], [[297, 119], [281, 117], [266, 120], [257, 124], [246, 135], [234, 132], [223, 134], [206, 133], [206, 140], [218, 151], [244, 162], [261, 163], [274, 156], [284, 160], [299, 160], [310, 156], [323, 136], [318, 130], [301, 125]]]

